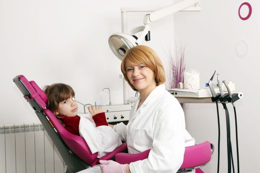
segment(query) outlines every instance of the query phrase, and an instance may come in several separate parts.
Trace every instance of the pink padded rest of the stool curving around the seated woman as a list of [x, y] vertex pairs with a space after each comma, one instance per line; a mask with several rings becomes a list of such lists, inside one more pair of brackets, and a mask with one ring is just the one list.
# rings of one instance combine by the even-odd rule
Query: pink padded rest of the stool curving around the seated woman
[[[115, 160], [119, 164], [130, 164], [138, 160], [147, 159], [149, 150], [138, 154], [118, 153]], [[194, 168], [208, 163], [211, 159], [211, 144], [206, 141], [201, 144], [185, 147], [184, 160], [180, 169]]]

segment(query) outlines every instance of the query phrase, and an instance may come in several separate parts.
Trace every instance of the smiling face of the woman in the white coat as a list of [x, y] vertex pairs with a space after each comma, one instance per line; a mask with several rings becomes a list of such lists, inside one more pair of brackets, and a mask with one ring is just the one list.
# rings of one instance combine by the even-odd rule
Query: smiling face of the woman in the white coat
[[126, 75], [129, 82], [139, 91], [150, 91], [156, 87], [154, 72], [144, 64], [126, 60]]

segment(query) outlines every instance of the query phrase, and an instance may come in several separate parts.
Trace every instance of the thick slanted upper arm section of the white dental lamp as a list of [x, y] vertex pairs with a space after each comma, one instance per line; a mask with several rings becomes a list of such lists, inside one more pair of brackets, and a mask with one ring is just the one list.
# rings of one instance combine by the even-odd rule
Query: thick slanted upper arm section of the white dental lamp
[[152, 22], [154, 22], [158, 19], [161, 19], [163, 17], [166, 17], [167, 15], [170, 15], [172, 13], [185, 9], [191, 5], [196, 5], [196, 3], [198, 3], [198, 2], [199, 2], [199, 0], [181, 0], [174, 4], [171, 4], [166, 7], [161, 8], [161, 9], [158, 9], [150, 14], [147, 14], [144, 17], [144, 24], [151, 24]]

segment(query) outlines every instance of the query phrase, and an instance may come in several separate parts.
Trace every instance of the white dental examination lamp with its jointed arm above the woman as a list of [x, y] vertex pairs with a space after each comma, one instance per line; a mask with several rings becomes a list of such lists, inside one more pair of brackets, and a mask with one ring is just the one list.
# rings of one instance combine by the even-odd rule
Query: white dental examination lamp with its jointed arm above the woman
[[[128, 49], [138, 45], [143, 40], [150, 41], [150, 24], [152, 22], [192, 5], [198, 5], [198, 2], [199, 0], [181, 0], [164, 8], [158, 9], [150, 14], [147, 14], [144, 17], [144, 26], [136, 27], [128, 33], [116, 33], [111, 35], [108, 39], [109, 47], [116, 55], [116, 57], [122, 60]], [[140, 32], [141, 34], [139, 38], [137, 38], [136, 34]]]

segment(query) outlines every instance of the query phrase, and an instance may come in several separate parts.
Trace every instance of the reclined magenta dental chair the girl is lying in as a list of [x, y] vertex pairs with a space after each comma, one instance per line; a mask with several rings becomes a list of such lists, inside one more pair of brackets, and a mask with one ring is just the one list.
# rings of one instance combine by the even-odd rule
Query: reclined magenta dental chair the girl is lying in
[[[46, 109], [48, 97], [34, 81], [29, 82], [23, 75], [19, 75], [13, 79], [13, 82], [35, 110], [64, 162], [67, 164], [67, 170], [71, 170], [71, 172], [81, 171], [89, 166], [99, 164], [100, 159], [111, 159], [116, 153], [122, 152], [127, 148], [126, 143], [123, 143], [111, 153], [100, 159], [97, 158], [98, 153], [91, 153], [84, 138], [68, 132], [54, 114], [49, 109]], [[70, 171], [66, 173], [70, 173]]]

